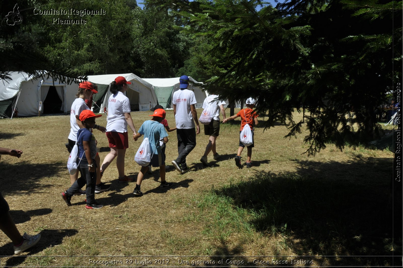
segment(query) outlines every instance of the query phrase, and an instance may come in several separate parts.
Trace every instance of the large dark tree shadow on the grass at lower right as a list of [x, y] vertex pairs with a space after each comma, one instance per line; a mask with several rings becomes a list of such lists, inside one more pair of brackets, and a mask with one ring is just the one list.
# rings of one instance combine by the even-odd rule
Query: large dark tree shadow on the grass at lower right
[[[216, 194], [250, 211], [258, 232], [281, 234], [296, 255], [318, 255], [313, 260], [320, 265], [392, 265], [392, 255], [401, 255], [401, 237], [393, 241], [390, 176], [372, 177], [390, 159], [299, 163], [297, 174], [260, 172]], [[326, 178], [335, 172], [348, 176]], [[371, 183], [358, 182], [361, 177]], [[323, 258], [334, 255], [351, 257]]]

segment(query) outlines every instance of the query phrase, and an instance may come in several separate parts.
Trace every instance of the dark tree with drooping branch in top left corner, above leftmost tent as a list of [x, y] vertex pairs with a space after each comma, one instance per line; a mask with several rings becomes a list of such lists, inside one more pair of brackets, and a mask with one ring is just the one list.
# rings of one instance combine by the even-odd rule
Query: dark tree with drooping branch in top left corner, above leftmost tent
[[[10, 72], [23, 71], [33, 77], [53, 77], [67, 83], [81, 81], [86, 76], [52, 61], [37, 46], [44, 35], [27, 31], [38, 25], [33, 15], [35, 5], [44, 6], [46, 0], [19, 0], [0, 2], [0, 79], [10, 80]], [[37, 29], [40, 27], [36, 26]]]

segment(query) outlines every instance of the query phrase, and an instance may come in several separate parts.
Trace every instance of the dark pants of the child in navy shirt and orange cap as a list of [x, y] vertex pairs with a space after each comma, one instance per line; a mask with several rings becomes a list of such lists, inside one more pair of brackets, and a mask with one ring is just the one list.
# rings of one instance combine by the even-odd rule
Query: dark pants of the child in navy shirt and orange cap
[[[96, 167], [95, 160], [92, 159], [92, 163]], [[85, 188], [85, 194], [87, 196], [87, 204], [95, 203], [95, 184], [97, 182], [97, 173], [89, 172], [88, 163], [80, 163], [79, 170], [81, 173], [80, 178], [76, 180], [73, 185], [69, 189], [67, 189], [67, 194], [72, 196], [78, 192], [84, 185], [87, 185]]]

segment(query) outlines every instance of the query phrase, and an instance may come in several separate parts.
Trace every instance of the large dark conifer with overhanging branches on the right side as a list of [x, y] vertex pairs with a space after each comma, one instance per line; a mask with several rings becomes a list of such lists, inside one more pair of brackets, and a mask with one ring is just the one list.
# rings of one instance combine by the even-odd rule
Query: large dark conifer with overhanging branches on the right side
[[[210, 52], [220, 59], [220, 73], [209, 80], [210, 91], [258, 97], [269, 127], [289, 120], [287, 136], [305, 125], [310, 154], [328, 141], [342, 149], [346, 142], [374, 138], [374, 109], [401, 75], [397, 68], [392, 72], [401, 39], [392, 41], [391, 27], [392, 17], [401, 20], [401, 2], [300, 0], [257, 10], [260, 4], [222, 0], [182, 13], [214, 41]], [[295, 107], [303, 112], [299, 122], [293, 121]]]

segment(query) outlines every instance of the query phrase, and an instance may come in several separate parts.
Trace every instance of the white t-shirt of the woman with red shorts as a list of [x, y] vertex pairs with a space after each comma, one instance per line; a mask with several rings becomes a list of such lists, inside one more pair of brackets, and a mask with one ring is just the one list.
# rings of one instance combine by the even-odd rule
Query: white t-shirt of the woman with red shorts
[[127, 132], [125, 113], [130, 113], [130, 101], [123, 92], [118, 91], [108, 99], [108, 117], [106, 131]]

